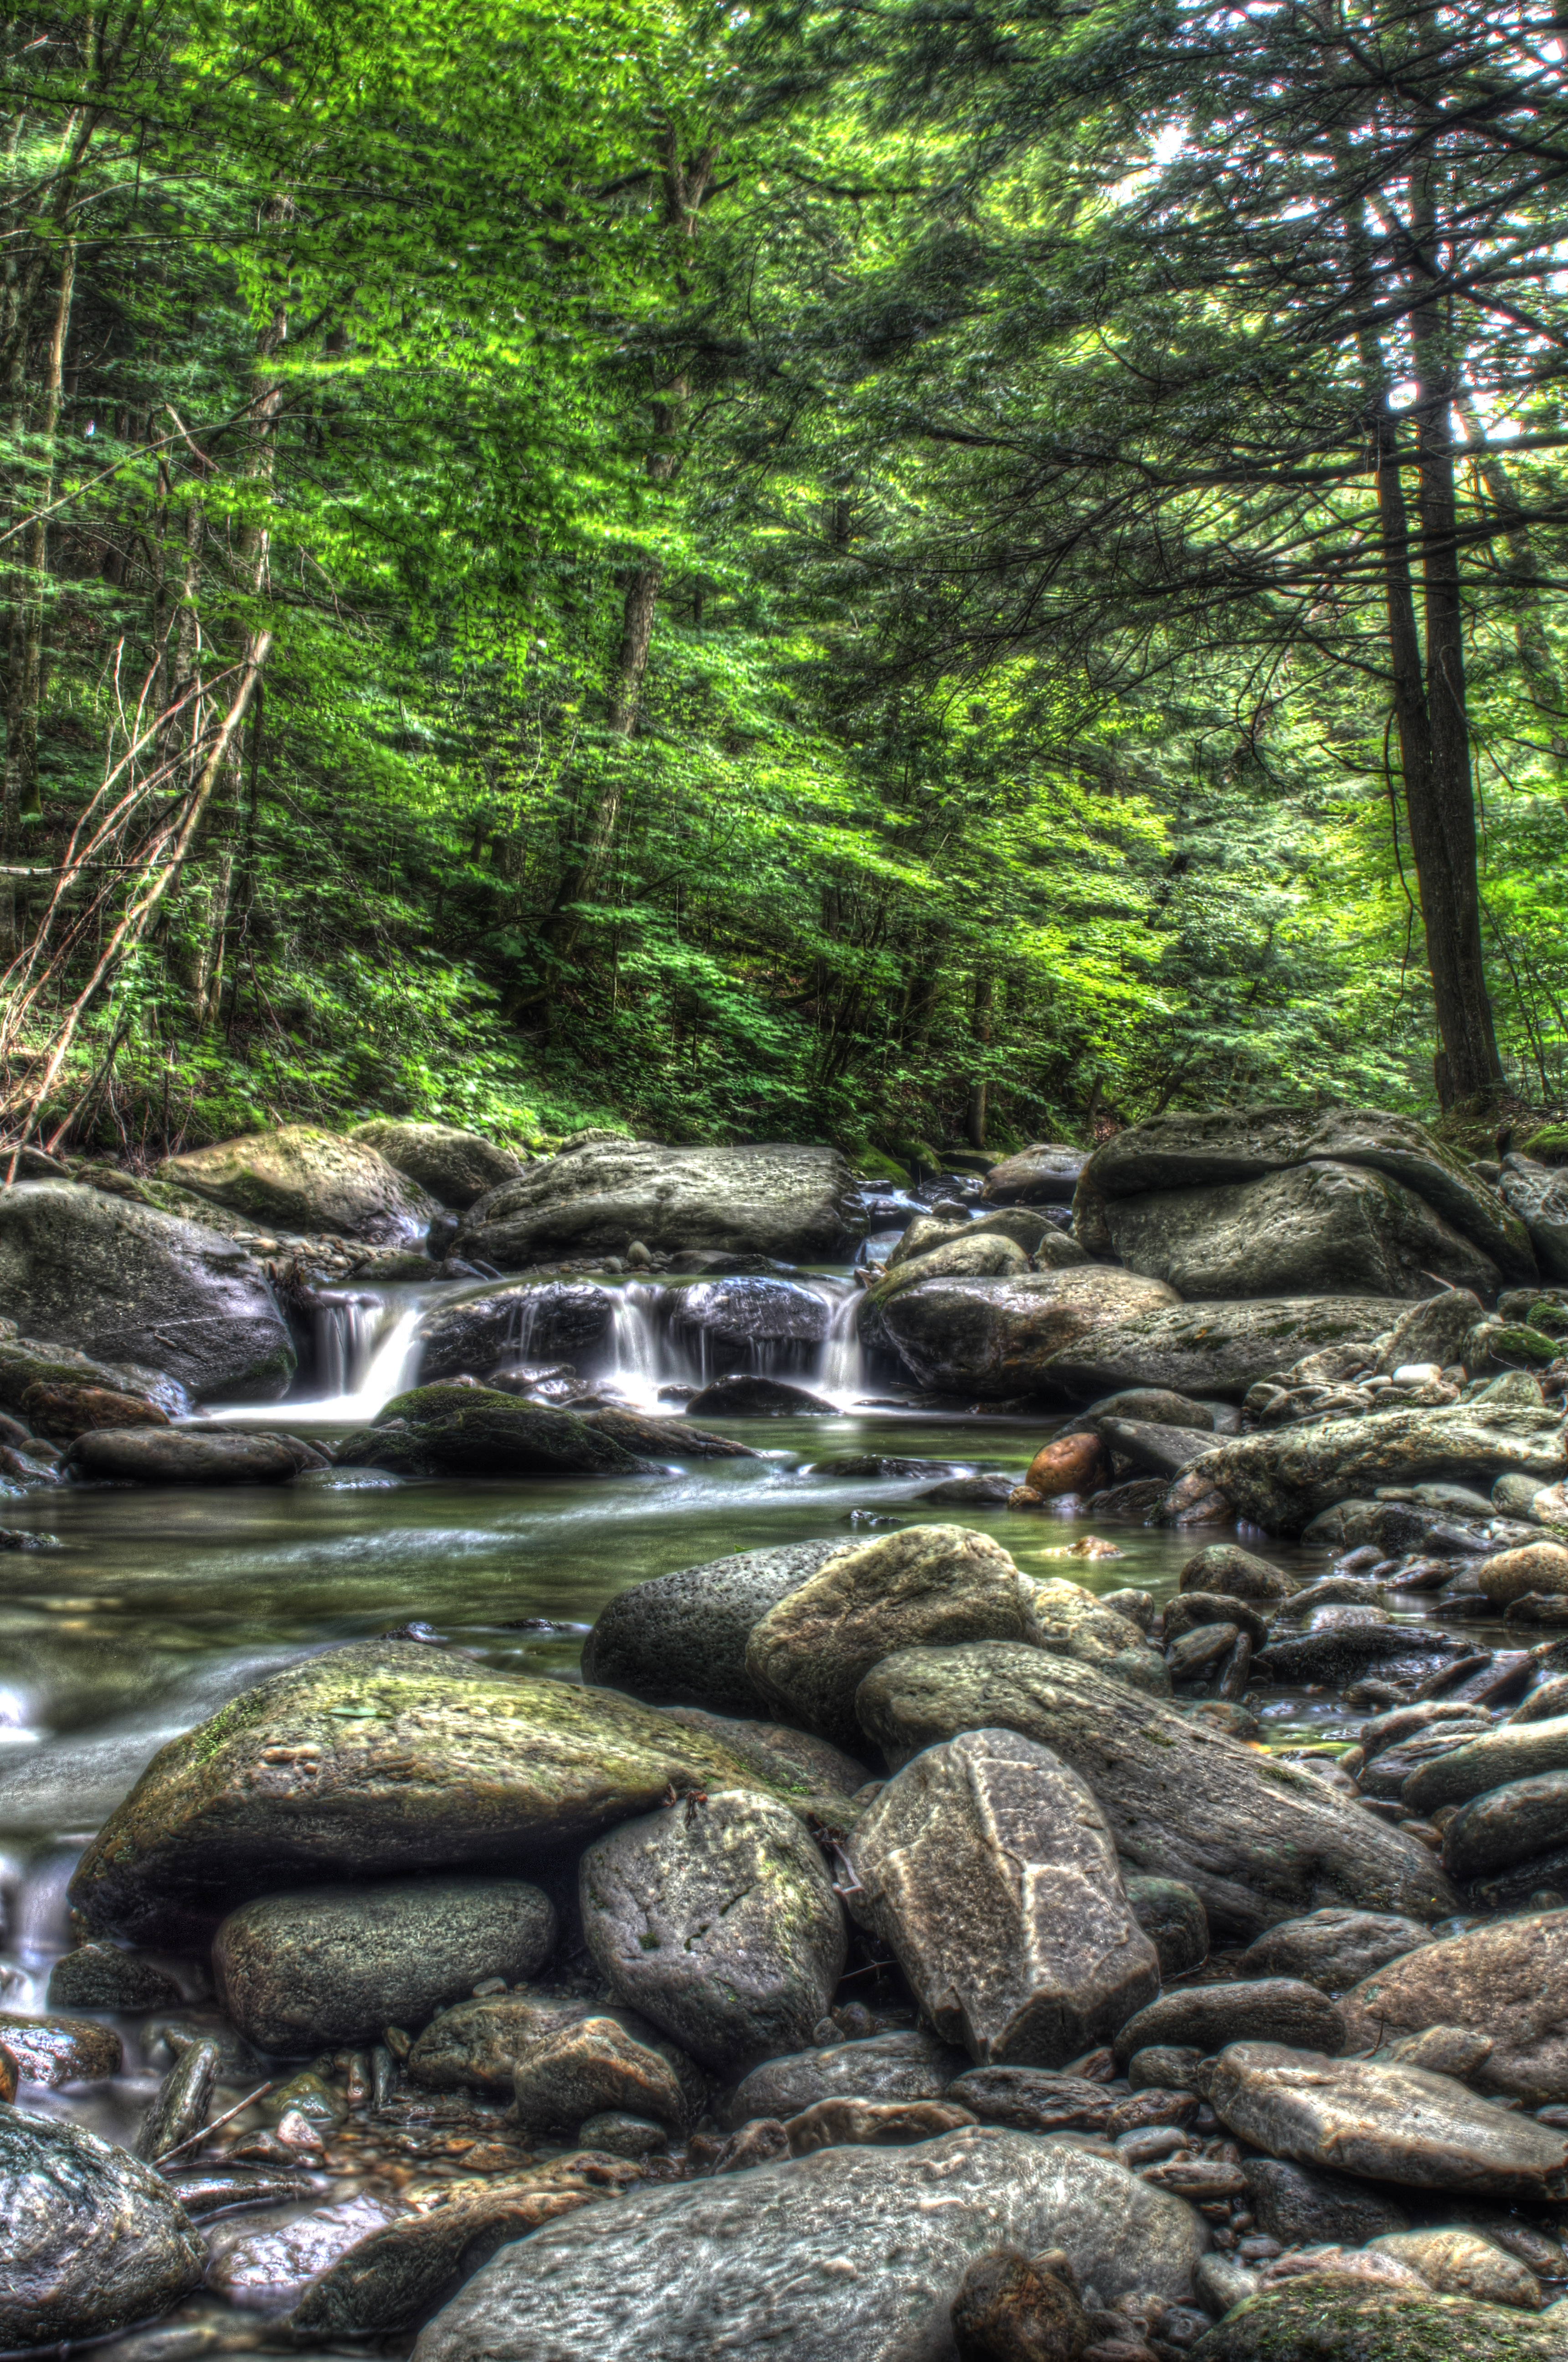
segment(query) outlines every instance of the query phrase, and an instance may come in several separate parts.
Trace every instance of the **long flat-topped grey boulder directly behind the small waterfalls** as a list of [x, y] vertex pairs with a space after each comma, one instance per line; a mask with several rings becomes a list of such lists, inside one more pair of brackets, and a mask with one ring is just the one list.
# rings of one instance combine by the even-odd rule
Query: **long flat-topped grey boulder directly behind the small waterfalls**
[[822, 1261], [841, 1252], [852, 1209], [855, 1179], [836, 1148], [590, 1141], [479, 1198], [456, 1252], [503, 1271], [550, 1254], [621, 1254], [633, 1240]]

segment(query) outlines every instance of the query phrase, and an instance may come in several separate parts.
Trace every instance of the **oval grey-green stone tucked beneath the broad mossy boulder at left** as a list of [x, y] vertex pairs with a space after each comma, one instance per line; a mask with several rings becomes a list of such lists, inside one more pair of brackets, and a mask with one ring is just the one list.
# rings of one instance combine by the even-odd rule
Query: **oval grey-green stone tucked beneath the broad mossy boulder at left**
[[486, 1977], [527, 1982], [553, 1949], [555, 1906], [522, 1878], [399, 1878], [241, 1904], [213, 1977], [246, 2041], [290, 2057], [423, 2027]]

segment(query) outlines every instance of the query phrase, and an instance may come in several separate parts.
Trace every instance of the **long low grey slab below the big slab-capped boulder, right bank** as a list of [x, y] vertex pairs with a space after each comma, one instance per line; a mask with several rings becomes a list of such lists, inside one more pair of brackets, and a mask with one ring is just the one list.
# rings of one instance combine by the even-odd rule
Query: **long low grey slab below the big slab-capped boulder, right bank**
[[1259, 1377], [1289, 1370], [1327, 1344], [1381, 1337], [1403, 1311], [1403, 1297], [1167, 1301], [1105, 1320], [1063, 1344], [1041, 1368], [1041, 1384], [1077, 1401], [1119, 1386], [1240, 1398]]

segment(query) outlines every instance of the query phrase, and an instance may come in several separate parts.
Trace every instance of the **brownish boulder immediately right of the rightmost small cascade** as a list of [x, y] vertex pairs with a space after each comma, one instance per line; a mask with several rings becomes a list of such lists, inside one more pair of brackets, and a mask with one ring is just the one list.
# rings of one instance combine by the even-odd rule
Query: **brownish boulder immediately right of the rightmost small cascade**
[[1171, 1304], [1176, 1292], [1162, 1280], [1100, 1264], [1015, 1280], [919, 1280], [867, 1304], [860, 1337], [895, 1353], [921, 1386], [1004, 1401], [1048, 1391], [1053, 1356], [1093, 1330]]

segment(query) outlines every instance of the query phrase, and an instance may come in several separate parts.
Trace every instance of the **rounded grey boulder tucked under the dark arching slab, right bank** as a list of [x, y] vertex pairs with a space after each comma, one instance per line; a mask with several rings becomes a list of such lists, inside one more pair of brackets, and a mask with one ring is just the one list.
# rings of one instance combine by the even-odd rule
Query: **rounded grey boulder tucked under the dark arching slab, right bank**
[[1431, 1275], [1492, 1294], [1497, 1264], [1424, 1198], [1363, 1164], [1292, 1164], [1261, 1181], [1112, 1198], [1110, 1238], [1129, 1266], [1188, 1301], [1431, 1294]]

